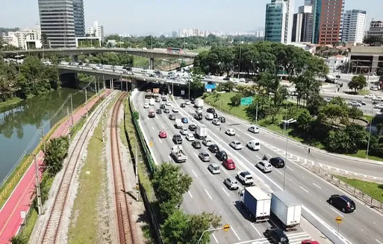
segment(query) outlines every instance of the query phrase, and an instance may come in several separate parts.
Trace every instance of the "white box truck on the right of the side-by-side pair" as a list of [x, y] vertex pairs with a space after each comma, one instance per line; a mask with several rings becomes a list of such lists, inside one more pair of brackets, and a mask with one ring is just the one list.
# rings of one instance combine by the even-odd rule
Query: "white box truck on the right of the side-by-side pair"
[[273, 192], [271, 209], [286, 231], [297, 229], [301, 222], [302, 204], [292, 195], [288, 192]]

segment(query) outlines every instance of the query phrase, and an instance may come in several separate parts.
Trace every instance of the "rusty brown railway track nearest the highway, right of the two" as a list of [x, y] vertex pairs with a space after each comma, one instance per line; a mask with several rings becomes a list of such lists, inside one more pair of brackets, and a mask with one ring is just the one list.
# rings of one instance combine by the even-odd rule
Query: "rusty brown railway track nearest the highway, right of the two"
[[136, 237], [134, 221], [130, 216], [132, 211], [130, 210], [129, 197], [127, 196], [125, 174], [123, 165], [121, 165], [121, 154], [118, 143], [118, 112], [120, 111], [121, 104], [124, 98], [126, 98], [126, 95], [127, 93], [123, 93], [114, 105], [110, 123], [110, 144], [113, 167], [112, 172], [114, 181], [114, 197], [116, 205], [116, 231], [118, 231], [120, 244], [134, 244], [139, 242], [137, 241]]

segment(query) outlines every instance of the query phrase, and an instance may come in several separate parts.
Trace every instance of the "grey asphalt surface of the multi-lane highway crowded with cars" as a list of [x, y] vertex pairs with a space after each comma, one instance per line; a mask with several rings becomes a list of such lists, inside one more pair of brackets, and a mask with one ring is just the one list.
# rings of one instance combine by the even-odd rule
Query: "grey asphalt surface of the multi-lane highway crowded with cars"
[[[194, 114], [194, 109], [189, 106], [186, 108], [179, 107], [178, 104], [181, 102], [180, 100], [176, 100], [175, 102], [174, 106], [180, 109], [180, 113], [176, 114], [176, 116], [178, 116], [178, 118], [189, 116], [189, 119], [191, 119], [192, 114]], [[169, 157], [170, 148], [173, 146], [171, 137], [174, 134], [179, 134], [178, 130], [173, 127], [173, 121], [168, 119], [169, 114], [156, 114], [154, 119], [148, 119], [148, 111], [146, 111], [147, 109], [143, 109], [143, 103], [143, 93], [136, 94], [136, 96], [134, 96], [134, 104], [140, 113], [140, 123], [143, 126], [146, 137], [150, 142], [153, 142], [152, 150], [155, 159], [157, 162], [169, 161], [171, 160]], [[155, 107], [158, 108], [159, 103], [157, 103]], [[205, 109], [206, 107], [203, 109], [204, 114], [206, 113]], [[206, 151], [207, 148], [203, 146], [201, 150], [196, 150], [191, 146], [191, 143], [187, 142], [184, 138], [182, 146], [187, 152], [188, 160], [182, 164], [182, 169], [194, 178], [194, 182], [192, 183], [190, 191], [185, 195], [182, 207], [185, 208], [188, 213], [214, 211], [222, 215], [224, 222], [228, 222], [232, 225], [232, 231], [230, 231], [229, 234], [223, 234], [221, 232], [214, 234], [213, 238], [217, 239], [217, 243], [250, 243], [251, 240], [263, 238], [262, 232], [268, 226], [268, 223], [254, 224], [249, 222], [247, 213], [239, 207], [237, 192], [229, 191], [222, 182], [224, 178], [235, 176], [237, 171], [247, 170], [253, 174], [256, 178], [256, 184], [260, 185], [261, 188], [269, 192], [283, 190], [283, 169], [273, 169], [272, 173], [263, 174], [258, 171], [254, 165], [256, 165], [256, 162], [258, 162], [264, 154], [269, 155], [269, 157], [281, 156], [281, 153], [285, 150], [284, 148], [286, 148], [286, 144], [284, 144], [280, 138], [266, 132], [261, 132], [256, 135], [247, 132], [249, 125], [244, 123], [244, 121], [231, 118], [230, 116], [226, 116], [226, 119], [226, 123], [221, 125], [222, 130], [219, 130], [219, 126], [212, 125], [211, 121], [206, 121], [205, 119], [202, 121], [193, 121], [192, 123], [204, 123], [208, 126], [208, 137], [216, 142], [220, 148], [228, 152], [229, 158], [235, 160], [237, 169], [236, 171], [226, 171], [221, 167], [221, 174], [212, 176], [207, 169], [208, 163], [201, 162], [197, 157], [199, 151]], [[158, 138], [158, 132], [162, 128], [168, 132], [167, 139]], [[233, 137], [225, 135], [225, 128], [234, 128], [236, 135]], [[228, 146], [233, 139], [240, 140], [240, 142], [245, 145], [249, 140], [254, 138], [260, 139], [261, 141], [260, 151], [250, 151], [246, 147], [240, 151], [235, 151]], [[289, 151], [292, 153], [296, 151], [297, 154], [299, 154], [298, 152], [299, 150], [302, 151], [302, 148], [294, 149], [294, 146], [294, 144], [290, 144]], [[301, 158], [307, 156], [307, 153], [303, 154], [304, 156], [301, 156]], [[312, 156], [319, 157], [319, 153], [318, 155]], [[326, 201], [329, 195], [336, 193], [342, 194], [344, 192], [297, 165], [297, 157], [289, 153], [290, 159], [287, 162], [286, 190], [302, 202], [304, 206], [304, 217], [320, 229], [322, 233], [329, 236], [335, 243], [382, 243], [382, 214], [368, 206], [364, 206], [364, 204], [357, 199], [355, 199], [357, 211], [354, 213], [341, 213], [336, 208], [330, 206]], [[212, 162], [218, 162], [213, 155]], [[359, 171], [359, 167], [357, 167], [357, 170]], [[337, 224], [334, 220], [338, 215], [343, 218], [343, 223], [339, 229], [340, 237], [336, 234]], [[302, 230], [298, 231], [298, 233], [302, 234], [297, 234], [297, 231], [290, 234], [296, 236], [302, 235], [299, 236], [299, 238], [296, 237], [296, 240], [294, 239], [295, 241], [302, 240], [308, 236], [308, 234]]]

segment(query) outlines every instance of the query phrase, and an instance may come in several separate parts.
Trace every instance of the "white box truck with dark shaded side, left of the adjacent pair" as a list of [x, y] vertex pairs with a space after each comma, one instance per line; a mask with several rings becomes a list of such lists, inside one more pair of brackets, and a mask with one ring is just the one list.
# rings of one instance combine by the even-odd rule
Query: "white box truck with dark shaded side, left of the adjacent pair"
[[264, 222], [270, 218], [271, 199], [258, 186], [249, 186], [240, 191], [241, 204], [247, 210], [250, 218], [256, 222]]

